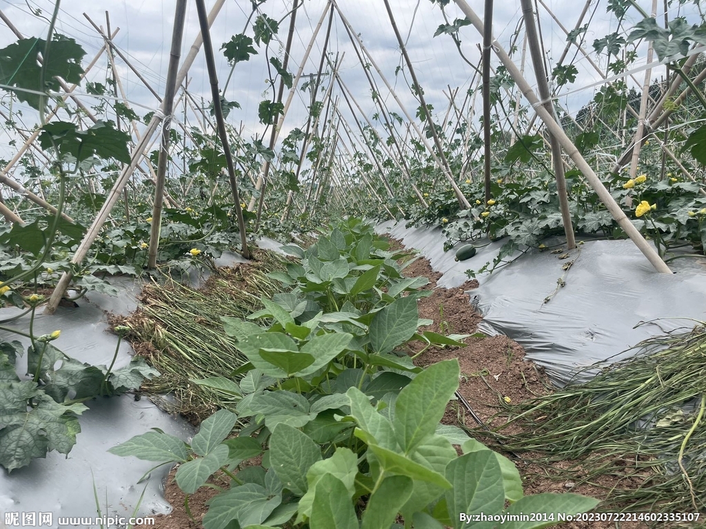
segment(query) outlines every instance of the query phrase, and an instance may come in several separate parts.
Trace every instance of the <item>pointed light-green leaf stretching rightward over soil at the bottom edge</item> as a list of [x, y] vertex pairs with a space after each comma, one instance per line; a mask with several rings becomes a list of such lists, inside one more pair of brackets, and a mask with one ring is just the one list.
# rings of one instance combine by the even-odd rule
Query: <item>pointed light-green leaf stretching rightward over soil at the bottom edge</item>
[[[579, 494], [534, 494], [525, 496], [520, 501], [515, 501], [505, 511], [507, 514], [520, 513], [542, 513], [537, 516], [540, 520], [546, 521], [510, 521], [503, 524], [503, 529], [539, 529], [554, 525], [558, 513], [576, 515], [594, 509], [600, 503], [599, 500], [580, 496]], [[546, 518], [544, 514], [546, 513]]]

